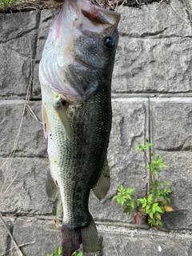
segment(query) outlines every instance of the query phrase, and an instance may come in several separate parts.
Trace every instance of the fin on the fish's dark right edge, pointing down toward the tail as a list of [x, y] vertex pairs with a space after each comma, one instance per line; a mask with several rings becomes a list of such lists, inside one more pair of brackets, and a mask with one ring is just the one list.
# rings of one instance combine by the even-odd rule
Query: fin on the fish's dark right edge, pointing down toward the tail
[[105, 198], [107, 191], [110, 189], [110, 169], [107, 162], [107, 156], [102, 167], [102, 174], [98, 178], [98, 182], [92, 188], [96, 197], [101, 200]]

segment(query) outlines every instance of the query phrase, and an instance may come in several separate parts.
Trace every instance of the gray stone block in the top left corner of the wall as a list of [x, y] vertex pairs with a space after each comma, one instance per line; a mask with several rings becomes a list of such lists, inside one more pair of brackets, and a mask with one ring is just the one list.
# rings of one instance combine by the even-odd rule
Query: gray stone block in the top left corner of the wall
[[26, 94], [39, 18], [38, 11], [0, 14], [0, 96]]

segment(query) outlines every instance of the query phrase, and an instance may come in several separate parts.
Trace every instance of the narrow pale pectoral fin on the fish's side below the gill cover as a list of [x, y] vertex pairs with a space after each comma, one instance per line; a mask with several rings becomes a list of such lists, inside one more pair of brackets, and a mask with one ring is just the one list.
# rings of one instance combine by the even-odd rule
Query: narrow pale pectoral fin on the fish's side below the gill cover
[[58, 98], [54, 101], [54, 110], [56, 110], [56, 113], [58, 114], [58, 117], [61, 119], [61, 122], [66, 130], [66, 135], [69, 139], [72, 139], [74, 137], [73, 130], [70, 126], [70, 120], [66, 114], [66, 110], [62, 106], [61, 99]]

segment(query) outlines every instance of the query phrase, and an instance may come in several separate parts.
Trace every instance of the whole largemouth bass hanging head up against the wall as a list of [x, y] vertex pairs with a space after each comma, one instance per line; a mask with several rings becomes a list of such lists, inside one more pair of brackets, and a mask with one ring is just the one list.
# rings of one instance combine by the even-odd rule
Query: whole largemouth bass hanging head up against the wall
[[63, 256], [81, 244], [84, 252], [100, 250], [89, 196], [93, 190], [101, 200], [110, 188], [107, 148], [119, 20], [117, 12], [88, 0], [64, 0], [39, 63], [46, 194], [52, 201], [61, 194]]

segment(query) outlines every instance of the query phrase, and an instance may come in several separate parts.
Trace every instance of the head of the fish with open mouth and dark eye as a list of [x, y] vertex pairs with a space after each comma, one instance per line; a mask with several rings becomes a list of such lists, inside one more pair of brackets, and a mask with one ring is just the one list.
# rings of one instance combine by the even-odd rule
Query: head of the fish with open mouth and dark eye
[[120, 14], [87, 0], [64, 0], [50, 27], [39, 67], [41, 84], [66, 102], [82, 102], [110, 86]]

